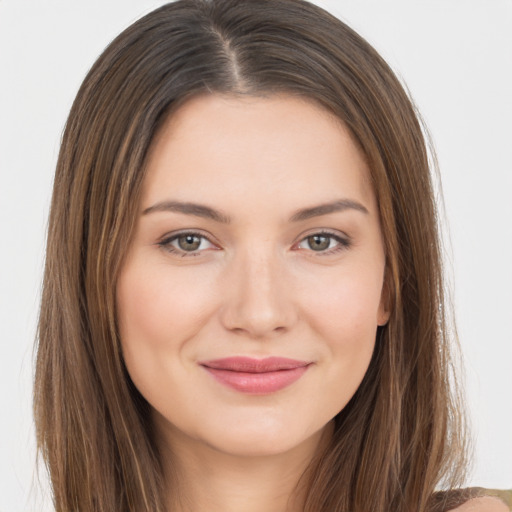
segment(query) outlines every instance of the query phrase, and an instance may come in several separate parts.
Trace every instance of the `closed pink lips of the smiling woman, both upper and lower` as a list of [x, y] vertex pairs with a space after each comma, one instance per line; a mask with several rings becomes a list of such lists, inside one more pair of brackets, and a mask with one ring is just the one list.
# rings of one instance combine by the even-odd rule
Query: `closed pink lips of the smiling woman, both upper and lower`
[[284, 389], [307, 371], [311, 362], [285, 357], [227, 357], [199, 363], [215, 380], [236, 391], [269, 394]]

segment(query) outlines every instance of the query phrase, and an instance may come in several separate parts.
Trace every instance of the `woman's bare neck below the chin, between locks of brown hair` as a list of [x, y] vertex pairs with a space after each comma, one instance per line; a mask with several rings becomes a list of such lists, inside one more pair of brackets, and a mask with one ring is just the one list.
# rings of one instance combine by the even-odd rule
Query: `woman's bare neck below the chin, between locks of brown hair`
[[259, 456], [221, 452], [182, 433], [172, 442], [166, 436], [161, 453], [168, 510], [298, 512], [305, 498], [301, 477], [331, 435], [329, 424], [285, 453]]

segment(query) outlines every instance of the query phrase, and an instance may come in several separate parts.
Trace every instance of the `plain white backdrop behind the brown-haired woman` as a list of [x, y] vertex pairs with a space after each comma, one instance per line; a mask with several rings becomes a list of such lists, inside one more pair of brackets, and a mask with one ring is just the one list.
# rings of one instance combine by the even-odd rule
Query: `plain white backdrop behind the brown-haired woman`
[[[103, 48], [158, 0], [0, 0], [0, 512], [49, 511], [34, 476], [33, 340], [62, 129]], [[474, 468], [512, 488], [512, 1], [317, 2], [407, 84], [437, 147]]]

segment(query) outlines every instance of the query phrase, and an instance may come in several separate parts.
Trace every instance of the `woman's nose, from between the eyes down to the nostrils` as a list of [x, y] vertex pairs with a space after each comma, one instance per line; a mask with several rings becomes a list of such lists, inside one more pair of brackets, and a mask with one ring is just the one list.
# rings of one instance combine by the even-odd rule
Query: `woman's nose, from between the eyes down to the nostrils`
[[240, 255], [227, 270], [221, 320], [224, 327], [253, 339], [289, 331], [298, 318], [293, 289], [279, 257]]

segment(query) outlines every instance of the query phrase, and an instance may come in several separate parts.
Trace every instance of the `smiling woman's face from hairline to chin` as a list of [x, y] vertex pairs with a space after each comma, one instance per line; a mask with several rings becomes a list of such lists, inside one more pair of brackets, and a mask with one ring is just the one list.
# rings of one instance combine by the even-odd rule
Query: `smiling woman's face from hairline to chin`
[[172, 443], [276, 454], [368, 368], [385, 255], [347, 129], [288, 96], [201, 96], [156, 138], [117, 289], [128, 372]]

